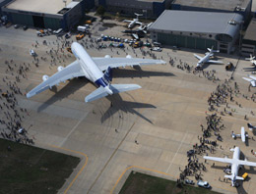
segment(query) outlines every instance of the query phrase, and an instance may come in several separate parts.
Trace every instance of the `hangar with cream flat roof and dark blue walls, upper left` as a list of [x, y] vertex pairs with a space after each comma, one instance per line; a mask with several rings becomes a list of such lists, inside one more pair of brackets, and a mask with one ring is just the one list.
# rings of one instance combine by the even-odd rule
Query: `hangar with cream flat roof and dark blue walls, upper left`
[[52, 29], [69, 29], [85, 14], [85, 1], [67, 0], [13, 0], [2, 7], [13, 24]]

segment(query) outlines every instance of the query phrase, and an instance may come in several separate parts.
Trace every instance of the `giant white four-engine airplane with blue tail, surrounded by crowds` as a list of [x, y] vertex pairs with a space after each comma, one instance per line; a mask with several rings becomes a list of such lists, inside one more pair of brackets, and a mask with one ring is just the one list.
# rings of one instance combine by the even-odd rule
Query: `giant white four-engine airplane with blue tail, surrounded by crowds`
[[[46, 89], [51, 89], [52, 86], [65, 82], [67, 79], [85, 76], [98, 86], [94, 92], [85, 98], [86, 102], [91, 102], [114, 93], [141, 88], [137, 84], [111, 84], [112, 68], [165, 64], [162, 60], [133, 59], [130, 55], [126, 56], [126, 58], [111, 58], [109, 55], [104, 58], [92, 58], [83, 46], [77, 42], [72, 43], [71, 50], [77, 60], [66, 68], [58, 67], [58, 73], [50, 77], [46, 74], [43, 75], [43, 82], [27, 94], [28, 98]], [[105, 72], [102, 73], [103, 71]]]

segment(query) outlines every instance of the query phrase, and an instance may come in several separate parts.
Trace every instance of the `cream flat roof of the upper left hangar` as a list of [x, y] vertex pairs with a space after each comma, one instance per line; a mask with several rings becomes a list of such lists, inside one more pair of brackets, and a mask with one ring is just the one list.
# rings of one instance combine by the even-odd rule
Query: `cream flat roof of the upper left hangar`
[[[67, 0], [67, 5], [71, 2], [72, 0]], [[62, 0], [15, 0], [6, 5], [6, 8], [25, 12], [60, 15], [58, 12], [65, 8], [65, 4]]]

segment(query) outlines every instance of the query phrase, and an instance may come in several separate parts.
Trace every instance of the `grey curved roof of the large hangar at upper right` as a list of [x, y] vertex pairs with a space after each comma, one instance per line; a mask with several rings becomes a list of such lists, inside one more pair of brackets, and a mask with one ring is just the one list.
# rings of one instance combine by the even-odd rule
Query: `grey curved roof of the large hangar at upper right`
[[150, 26], [155, 31], [188, 31], [201, 33], [224, 33], [233, 36], [242, 16], [235, 13], [190, 12], [165, 10], [158, 20]]

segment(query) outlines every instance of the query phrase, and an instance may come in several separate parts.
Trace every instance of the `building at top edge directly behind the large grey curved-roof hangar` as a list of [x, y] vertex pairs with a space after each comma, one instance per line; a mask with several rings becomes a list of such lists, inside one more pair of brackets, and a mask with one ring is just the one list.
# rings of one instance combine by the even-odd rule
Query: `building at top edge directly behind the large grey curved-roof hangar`
[[173, 0], [171, 10], [237, 13], [250, 19], [252, 0]]

